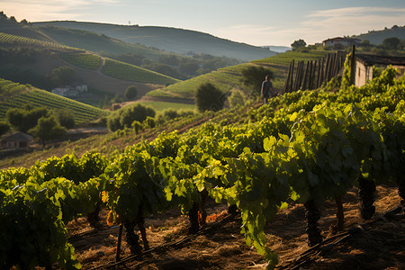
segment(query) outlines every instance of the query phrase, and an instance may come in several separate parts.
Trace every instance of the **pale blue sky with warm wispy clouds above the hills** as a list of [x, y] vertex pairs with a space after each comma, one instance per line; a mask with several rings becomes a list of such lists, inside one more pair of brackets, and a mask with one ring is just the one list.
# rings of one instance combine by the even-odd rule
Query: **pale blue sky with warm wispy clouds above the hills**
[[18, 22], [167, 26], [251, 45], [290, 46], [405, 25], [405, 0], [0, 0]]

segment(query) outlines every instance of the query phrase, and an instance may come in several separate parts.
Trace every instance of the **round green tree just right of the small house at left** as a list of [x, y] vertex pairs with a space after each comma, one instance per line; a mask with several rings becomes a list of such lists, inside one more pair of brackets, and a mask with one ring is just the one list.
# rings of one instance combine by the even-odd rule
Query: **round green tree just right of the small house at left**
[[40, 120], [38, 120], [38, 124], [31, 130], [28, 130], [28, 133], [34, 138], [40, 139], [45, 148], [45, 141], [63, 137], [66, 133], [66, 128], [58, 123], [55, 116], [41, 117]]

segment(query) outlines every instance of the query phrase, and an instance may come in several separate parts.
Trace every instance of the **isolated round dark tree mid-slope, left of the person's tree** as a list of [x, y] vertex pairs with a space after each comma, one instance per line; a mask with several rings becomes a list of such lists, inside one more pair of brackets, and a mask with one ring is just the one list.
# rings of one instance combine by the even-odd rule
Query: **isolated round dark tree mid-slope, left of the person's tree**
[[223, 108], [225, 100], [225, 94], [211, 83], [200, 85], [195, 93], [195, 103], [200, 112], [220, 111]]

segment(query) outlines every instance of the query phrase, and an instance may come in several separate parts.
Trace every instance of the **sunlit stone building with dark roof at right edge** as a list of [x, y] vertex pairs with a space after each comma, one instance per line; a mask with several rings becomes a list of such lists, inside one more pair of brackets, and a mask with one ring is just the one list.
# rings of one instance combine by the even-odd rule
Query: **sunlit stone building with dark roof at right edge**
[[373, 67], [397, 68], [401, 75], [405, 72], [405, 57], [388, 57], [379, 55], [356, 54], [355, 58], [355, 85], [360, 87], [368, 80], [373, 79]]

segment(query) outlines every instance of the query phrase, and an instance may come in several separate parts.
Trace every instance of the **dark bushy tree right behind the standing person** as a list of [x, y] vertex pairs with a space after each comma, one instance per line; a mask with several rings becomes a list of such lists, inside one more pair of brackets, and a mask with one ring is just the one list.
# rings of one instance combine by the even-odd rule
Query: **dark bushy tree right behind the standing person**
[[270, 76], [270, 79], [273, 79], [273, 71], [261, 66], [250, 66], [242, 70], [242, 84], [247, 86], [251, 97], [255, 98], [260, 94], [260, 89], [266, 76]]

